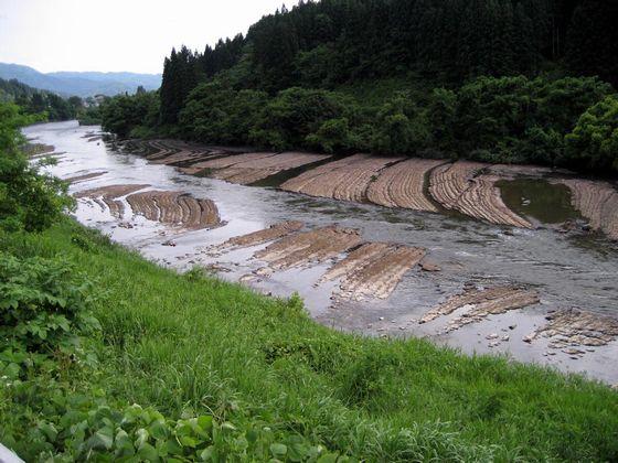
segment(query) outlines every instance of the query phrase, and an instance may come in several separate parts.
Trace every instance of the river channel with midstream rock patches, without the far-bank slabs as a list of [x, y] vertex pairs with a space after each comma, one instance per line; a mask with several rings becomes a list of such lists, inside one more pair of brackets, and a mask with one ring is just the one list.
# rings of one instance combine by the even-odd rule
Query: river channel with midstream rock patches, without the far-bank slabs
[[[160, 162], [187, 152], [134, 155], [96, 141], [95, 128], [61, 123], [26, 133], [65, 152], [51, 171], [73, 182], [81, 223], [163, 266], [180, 271], [199, 266], [285, 298], [298, 292], [315, 320], [347, 332], [428, 337], [470, 355], [505, 355], [618, 383], [612, 362], [618, 342], [612, 323], [605, 323], [616, 316], [618, 261], [612, 245], [595, 234], [505, 228], [457, 214], [188, 175]], [[234, 155], [222, 153], [215, 161], [228, 158]], [[187, 202], [188, 195], [198, 202]], [[195, 207], [183, 206], [189, 204]], [[290, 220], [299, 224], [294, 233], [278, 236], [278, 224]], [[331, 232], [337, 240], [322, 239]], [[270, 238], [256, 241], [256, 236]], [[249, 246], [221, 249], [225, 241]], [[296, 252], [301, 243], [305, 250]], [[415, 266], [417, 251], [424, 254], [422, 266]], [[397, 266], [381, 266], [388, 256], [398, 259]], [[363, 270], [365, 263], [371, 271]], [[439, 271], [426, 270], [435, 267]], [[487, 298], [492, 300], [484, 303]], [[580, 315], [548, 320], [556, 314]], [[582, 329], [590, 317], [600, 331]]]

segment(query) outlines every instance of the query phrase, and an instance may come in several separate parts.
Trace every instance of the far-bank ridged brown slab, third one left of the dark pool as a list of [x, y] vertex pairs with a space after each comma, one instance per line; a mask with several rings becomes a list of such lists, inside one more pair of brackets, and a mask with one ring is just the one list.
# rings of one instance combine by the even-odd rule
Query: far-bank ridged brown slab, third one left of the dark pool
[[354, 154], [288, 180], [281, 189], [310, 196], [363, 202], [370, 183], [377, 177], [380, 171], [402, 160], [403, 158]]

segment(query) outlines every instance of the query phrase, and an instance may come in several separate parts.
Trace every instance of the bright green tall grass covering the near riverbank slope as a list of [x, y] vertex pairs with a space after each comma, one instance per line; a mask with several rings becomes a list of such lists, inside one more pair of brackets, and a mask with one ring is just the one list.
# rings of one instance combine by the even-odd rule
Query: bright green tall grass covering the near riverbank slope
[[93, 381], [120, 402], [262, 419], [369, 460], [618, 459], [618, 394], [605, 386], [419, 340], [337, 333], [297, 301], [179, 276], [70, 222], [19, 243], [4, 247], [65, 255], [106, 290]]

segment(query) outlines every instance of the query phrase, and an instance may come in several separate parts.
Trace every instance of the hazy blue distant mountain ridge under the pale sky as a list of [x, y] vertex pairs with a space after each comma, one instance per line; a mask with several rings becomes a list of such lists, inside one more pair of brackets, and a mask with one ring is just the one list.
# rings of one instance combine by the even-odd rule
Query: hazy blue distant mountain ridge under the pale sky
[[138, 86], [154, 90], [161, 85], [160, 74], [57, 72], [40, 73], [29, 66], [0, 63], [0, 77], [17, 78], [32, 87], [55, 91], [61, 95], [81, 97], [135, 93]]

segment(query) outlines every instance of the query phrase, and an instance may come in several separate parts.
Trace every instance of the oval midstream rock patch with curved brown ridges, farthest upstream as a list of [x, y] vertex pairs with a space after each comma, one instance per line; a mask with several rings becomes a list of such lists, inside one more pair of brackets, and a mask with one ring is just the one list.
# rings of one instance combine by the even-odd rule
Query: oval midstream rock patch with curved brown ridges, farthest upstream
[[147, 191], [127, 196], [127, 202], [135, 214], [167, 225], [190, 229], [223, 225], [214, 202], [182, 192]]

